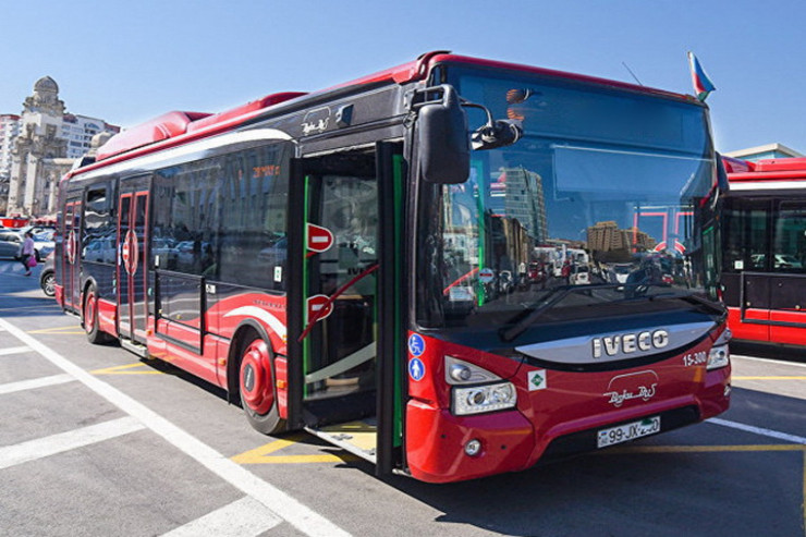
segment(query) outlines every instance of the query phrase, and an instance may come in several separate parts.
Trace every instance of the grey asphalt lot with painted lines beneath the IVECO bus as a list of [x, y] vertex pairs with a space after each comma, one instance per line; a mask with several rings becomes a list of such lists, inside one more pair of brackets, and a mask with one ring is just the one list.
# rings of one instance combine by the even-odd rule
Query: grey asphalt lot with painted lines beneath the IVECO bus
[[21, 270], [0, 261], [0, 535], [806, 535], [797, 354], [734, 354], [719, 419], [436, 486], [255, 432], [217, 388], [88, 344]]

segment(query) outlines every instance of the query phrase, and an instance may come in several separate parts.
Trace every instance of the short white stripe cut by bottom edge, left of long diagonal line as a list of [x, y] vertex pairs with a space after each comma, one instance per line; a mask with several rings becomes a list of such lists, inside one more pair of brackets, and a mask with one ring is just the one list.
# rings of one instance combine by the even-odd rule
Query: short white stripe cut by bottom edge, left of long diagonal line
[[251, 497], [207, 513], [200, 518], [163, 534], [162, 537], [252, 537], [282, 523], [282, 518]]

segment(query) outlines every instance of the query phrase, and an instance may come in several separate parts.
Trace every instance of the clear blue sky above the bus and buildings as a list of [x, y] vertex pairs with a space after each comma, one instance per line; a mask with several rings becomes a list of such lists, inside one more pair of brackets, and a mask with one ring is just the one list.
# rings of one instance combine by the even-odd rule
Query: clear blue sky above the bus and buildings
[[316, 90], [428, 50], [692, 93], [694, 51], [717, 91], [719, 150], [806, 154], [804, 0], [71, 0], [0, 2], [0, 113], [41, 76], [68, 111], [131, 126]]

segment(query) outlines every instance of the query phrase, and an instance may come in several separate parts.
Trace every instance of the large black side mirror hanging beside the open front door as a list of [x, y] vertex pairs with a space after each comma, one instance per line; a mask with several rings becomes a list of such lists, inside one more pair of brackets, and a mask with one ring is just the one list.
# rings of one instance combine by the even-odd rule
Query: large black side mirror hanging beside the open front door
[[[418, 109], [419, 168], [429, 183], [459, 184], [471, 174], [467, 115], [453, 86], [419, 90], [413, 108]], [[416, 102], [419, 100], [420, 102]]]

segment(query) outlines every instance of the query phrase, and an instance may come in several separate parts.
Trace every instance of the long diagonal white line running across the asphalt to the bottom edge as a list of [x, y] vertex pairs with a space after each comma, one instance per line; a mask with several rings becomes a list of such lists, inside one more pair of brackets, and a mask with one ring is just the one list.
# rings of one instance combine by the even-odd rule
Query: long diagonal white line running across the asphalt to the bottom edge
[[122, 411], [139, 419], [143, 425], [161, 436], [179, 450], [196, 460], [210, 472], [228, 481], [233, 487], [253, 497], [266, 508], [277, 513], [292, 526], [312, 536], [328, 535], [333, 537], [350, 534], [305, 507], [277, 487], [260, 479], [237, 463], [230, 461], [196, 437], [185, 432], [171, 422], [135, 401], [122, 391], [89, 375], [87, 371], [61, 356], [46, 344], [20, 330], [11, 322], [0, 318], [0, 328], [5, 328], [16, 339], [26, 343], [57, 367], [69, 373], [80, 382], [101, 395]]

